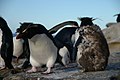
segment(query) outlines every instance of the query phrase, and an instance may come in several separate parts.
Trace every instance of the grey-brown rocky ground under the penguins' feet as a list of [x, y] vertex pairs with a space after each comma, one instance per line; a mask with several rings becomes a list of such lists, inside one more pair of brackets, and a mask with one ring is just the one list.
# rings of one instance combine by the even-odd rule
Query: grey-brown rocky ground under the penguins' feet
[[26, 73], [26, 70], [20, 70], [14, 75], [9, 70], [1, 70], [0, 80], [120, 80], [120, 53], [110, 55], [105, 71], [82, 73], [76, 63], [69, 64], [68, 68], [56, 64], [51, 74], [41, 74], [45, 69], [40, 68], [36, 73]]

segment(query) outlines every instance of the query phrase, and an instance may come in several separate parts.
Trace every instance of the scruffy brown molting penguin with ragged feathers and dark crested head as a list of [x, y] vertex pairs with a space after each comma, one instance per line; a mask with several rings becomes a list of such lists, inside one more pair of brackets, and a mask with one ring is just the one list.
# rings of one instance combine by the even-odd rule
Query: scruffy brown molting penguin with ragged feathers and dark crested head
[[[93, 19], [83, 17], [81, 27], [76, 30], [77, 37], [77, 62], [82, 66], [83, 71], [101, 71], [108, 63], [109, 48], [107, 41], [99, 26], [92, 23]], [[90, 20], [90, 21], [89, 21]]]

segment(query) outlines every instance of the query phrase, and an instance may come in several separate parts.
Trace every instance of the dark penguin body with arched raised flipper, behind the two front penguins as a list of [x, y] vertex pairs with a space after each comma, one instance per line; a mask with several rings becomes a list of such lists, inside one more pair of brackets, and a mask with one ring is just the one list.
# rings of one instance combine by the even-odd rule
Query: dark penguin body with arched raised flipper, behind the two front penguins
[[74, 34], [75, 34], [75, 30], [78, 27], [78, 23], [76, 21], [66, 21], [63, 23], [60, 23], [56, 26], [54, 26], [53, 28], [51, 28], [49, 30], [49, 33], [54, 33], [57, 32], [58, 29], [66, 26], [66, 25], [72, 25], [74, 27], [65, 27], [62, 30], [60, 30], [54, 37], [56, 43], [58, 44], [58, 46], [60, 47], [61, 44], [62, 47], [66, 46], [69, 53], [70, 53], [70, 60], [72, 62], [75, 61], [76, 59], [76, 53], [74, 53], [74, 48], [73, 48], [73, 44], [74, 44]]

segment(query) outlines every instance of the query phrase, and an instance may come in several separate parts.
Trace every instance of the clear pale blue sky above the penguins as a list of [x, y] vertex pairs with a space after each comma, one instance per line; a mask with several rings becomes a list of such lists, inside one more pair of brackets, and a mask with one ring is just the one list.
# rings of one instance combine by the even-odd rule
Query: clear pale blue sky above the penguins
[[113, 15], [120, 13], [120, 0], [0, 0], [0, 16], [12, 32], [20, 22], [43, 24], [47, 29], [64, 22], [80, 21], [77, 17], [99, 18], [94, 21], [101, 29], [116, 22]]

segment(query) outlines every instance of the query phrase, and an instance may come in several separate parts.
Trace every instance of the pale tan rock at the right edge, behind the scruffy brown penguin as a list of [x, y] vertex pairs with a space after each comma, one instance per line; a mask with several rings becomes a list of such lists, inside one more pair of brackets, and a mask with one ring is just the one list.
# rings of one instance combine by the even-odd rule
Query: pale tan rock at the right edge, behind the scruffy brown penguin
[[102, 31], [107, 39], [110, 53], [120, 52], [120, 23], [111, 25]]

